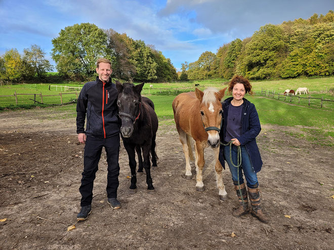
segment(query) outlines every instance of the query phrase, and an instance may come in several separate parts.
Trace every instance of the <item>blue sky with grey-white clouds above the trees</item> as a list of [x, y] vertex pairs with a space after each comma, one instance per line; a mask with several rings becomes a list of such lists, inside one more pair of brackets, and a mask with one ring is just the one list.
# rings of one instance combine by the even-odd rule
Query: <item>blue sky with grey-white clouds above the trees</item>
[[0, 0], [0, 55], [31, 44], [47, 59], [51, 40], [76, 23], [127, 33], [153, 44], [179, 70], [201, 53], [235, 38], [252, 36], [261, 26], [334, 10], [333, 0]]

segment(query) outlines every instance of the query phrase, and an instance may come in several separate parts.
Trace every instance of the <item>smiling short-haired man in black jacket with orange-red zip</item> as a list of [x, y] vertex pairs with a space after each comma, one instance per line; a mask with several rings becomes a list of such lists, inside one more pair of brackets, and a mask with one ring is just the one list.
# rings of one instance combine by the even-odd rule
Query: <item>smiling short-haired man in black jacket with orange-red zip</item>
[[102, 147], [105, 148], [108, 163], [108, 203], [113, 209], [120, 208], [120, 203], [117, 201], [120, 132], [120, 122], [117, 117], [117, 89], [110, 79], [112, 73], [110, 61], [104, 58], [99, 59], [96, 67], [99, 76], [95, 81], [87, 82], [82, 87], [76, 105], [76, 132], [79, 142], [85, 144], [84, 172], [82, 172], [79, 188], [82, 197], [81, 210], [77, 215], [78, 221], [86, 220], [92, 210], [93, 183]]

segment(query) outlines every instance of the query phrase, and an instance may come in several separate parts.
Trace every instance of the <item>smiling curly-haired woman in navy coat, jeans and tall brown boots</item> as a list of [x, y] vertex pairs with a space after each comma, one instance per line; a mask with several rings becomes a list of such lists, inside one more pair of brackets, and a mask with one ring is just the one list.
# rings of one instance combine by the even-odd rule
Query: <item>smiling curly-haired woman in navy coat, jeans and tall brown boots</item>
[[[255, 139], [261, 131], [260, 120], [254, 104], [244, 98], [246, 93], [253, 95], [252, 85], [246, 78], [235, 76], [229, 83], [228, 90], [232, 93], [232, 97], [227, 98], [222, 104], [224, 122], [220, 139], [224, 145], [220, 147], [219, 160], [223, 166], [225, 164], [224, 160], [227, 162], [239, 198], [240, 207], [234, 210], [232, 215], [240, 217], [248, 213], [247, 190], [242, 177], [243, 173], [251, 201], [251, 213], [261, 222], [268, 223], [268, 218], [262, 213], [260, 206], [260, 189], [256, 174], [262, 167], [262, 160]], [[239, 168], [236, 167], [238, 165], [238, 146], [241, 148], [241, 166]]]

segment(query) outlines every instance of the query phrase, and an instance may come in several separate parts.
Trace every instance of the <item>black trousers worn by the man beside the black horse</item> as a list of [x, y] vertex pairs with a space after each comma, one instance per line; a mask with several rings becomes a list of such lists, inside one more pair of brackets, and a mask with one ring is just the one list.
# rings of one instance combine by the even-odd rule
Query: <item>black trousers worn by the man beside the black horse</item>
[[102, 147], [105, 148], [108, 163], [107, 196], [108, 198], [117, 197], [117, 188], [119, 185], [119, 134], [105, 139], [87, 136], [84, 153], [84, 172], [82, 172], [81, 186], [79, 188], [82, 196], [81, 207], [92, 204], [93, 184], [95, 174], [98, 171]]

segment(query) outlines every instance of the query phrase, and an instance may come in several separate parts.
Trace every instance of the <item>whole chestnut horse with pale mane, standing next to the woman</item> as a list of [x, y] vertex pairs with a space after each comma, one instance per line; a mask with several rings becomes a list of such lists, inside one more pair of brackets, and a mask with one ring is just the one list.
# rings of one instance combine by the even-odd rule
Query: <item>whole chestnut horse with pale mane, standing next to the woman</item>
[[186, 178], [191, 179], [189, 158], [193, 160], [190, 137], [195, 140], [196, 190], [204, 191], [202, 170], [204, 167], [204, 148], [211, 146], [215, 154], [215, 169], [219, 197], [227, 200], [222, 170], [219, 158], [219, 132], [222, 125], [223, 110], [221, 99], [226, 88], [217, 90], [207, 88], [202, 92], [198, 88], [195, 92], [181, 93], [173, 101], [174, 119], [179, 132], [183, 153], [186, 158]]

